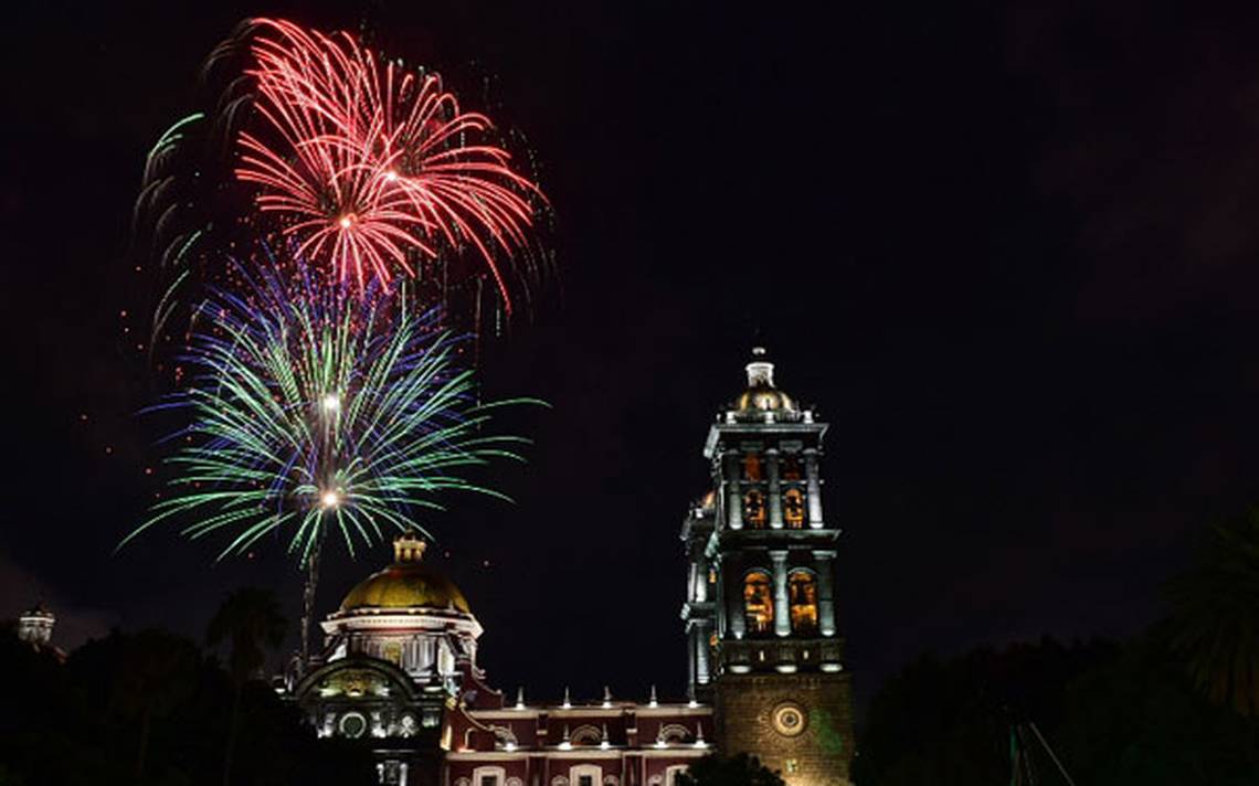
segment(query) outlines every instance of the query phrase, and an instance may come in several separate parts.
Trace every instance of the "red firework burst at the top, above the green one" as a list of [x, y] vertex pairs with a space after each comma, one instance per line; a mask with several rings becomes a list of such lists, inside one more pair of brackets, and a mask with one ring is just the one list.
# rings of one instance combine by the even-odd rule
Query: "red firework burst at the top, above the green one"
[[529, 240], [538, 186], [511, 167], [494, 125], [433, 74], [378, 64], [354, 36], [258, 20], [252, 54], [262, 136], [240, 135], [237, 177], [258, 184], [301, 253], [361, 285], [414, 274], [412, 253], [470, 244], [510, 312], [497, 254]]

